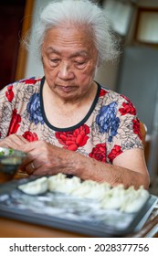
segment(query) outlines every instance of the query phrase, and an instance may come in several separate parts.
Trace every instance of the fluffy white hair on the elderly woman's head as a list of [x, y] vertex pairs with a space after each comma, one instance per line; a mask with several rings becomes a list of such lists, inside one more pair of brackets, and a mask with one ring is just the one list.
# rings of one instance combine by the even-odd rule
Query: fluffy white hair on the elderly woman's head
[[[32, 40], [35, 41], [37, 57], [41, 59], [41, 48], [47, 30], [70, 22], [74, 26], [85, 27], [92, 35], [91, 39], [98, 50], [99, 63], [115, 59], [119, 54], [118, 41], [115, 39], [107, 15], [100, 5], [90, 0], [54, 0], [38, 17]], [[28, 38], [25, 44], [29, 49]]]

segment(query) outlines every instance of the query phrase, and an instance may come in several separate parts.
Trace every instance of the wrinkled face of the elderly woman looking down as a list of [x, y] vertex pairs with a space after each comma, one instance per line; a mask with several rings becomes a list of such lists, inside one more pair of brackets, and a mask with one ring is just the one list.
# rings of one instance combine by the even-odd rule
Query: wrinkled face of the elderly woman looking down
[[97, 49], [85, 30], [61, 26], [47, 31], [42, 60], [47, 84], [58, 97], [83, 97], [90, 90], [97, 59]]

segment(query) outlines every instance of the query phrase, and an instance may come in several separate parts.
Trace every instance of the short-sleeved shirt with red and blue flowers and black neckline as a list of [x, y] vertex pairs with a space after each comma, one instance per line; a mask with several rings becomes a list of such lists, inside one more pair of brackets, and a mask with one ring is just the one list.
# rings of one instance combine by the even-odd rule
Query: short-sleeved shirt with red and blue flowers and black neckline
[[84, 119], [58, 128], [47, 121], [44, 81], [45, 77], [19, 80], [0, 91], [0, 139], [16, 133], [29, 142], [44, 140], [106, 163], [126, 150], [143, 148], [140, 122], [128, 98], [98, 84]]

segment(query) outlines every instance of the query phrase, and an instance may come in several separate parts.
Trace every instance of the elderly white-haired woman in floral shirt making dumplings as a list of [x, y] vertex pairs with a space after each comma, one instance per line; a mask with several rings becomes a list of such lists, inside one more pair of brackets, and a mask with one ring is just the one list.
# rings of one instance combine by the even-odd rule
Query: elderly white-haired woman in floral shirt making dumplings
[[100, 6], [52, 1], [34, 30], [44, 77], [19, 80], [0, 92], [0, 146], [28, 153], [28, 175], [60, 173], [149, 186], [140, 123], [132, 102], [94, 80], [115, 58]]

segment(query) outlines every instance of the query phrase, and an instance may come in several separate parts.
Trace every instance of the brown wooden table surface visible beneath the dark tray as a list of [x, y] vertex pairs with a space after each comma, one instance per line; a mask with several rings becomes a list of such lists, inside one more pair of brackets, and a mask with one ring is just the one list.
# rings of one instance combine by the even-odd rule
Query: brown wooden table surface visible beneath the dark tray
[[[22, 177], [21, 175], [15, 176]], [[25, 221], [0, 218], [0, 238], [86, 238], [87, 235], [54, 229], [38, 224], [30, 224]], [[153, 208], [150, 218], [142, 229], [137, 233], [129, 234], [127, 237], [158, 238], [158, 206]]]

